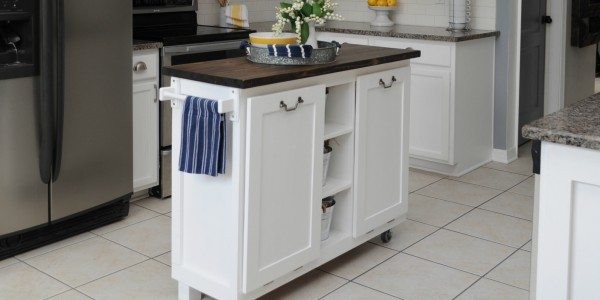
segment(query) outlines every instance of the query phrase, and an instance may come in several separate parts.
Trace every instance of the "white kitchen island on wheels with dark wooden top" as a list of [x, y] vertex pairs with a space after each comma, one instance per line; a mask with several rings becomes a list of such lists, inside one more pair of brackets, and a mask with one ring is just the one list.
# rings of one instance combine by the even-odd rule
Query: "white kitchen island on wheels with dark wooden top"
[[[408, 207], [409, 60], [419, 55], [345, 44], [324, 65], [164, 68], [180, 299], [255, 299], [374, 237], [389, 241]], [[211, 99], [224, 123], [194, 125], [206, 119], [190, 122], [201, 109], [188, 96]], [[178, 171], [189, 149], [219, 157], [202, 134], [223, 142], [216, 177]]]

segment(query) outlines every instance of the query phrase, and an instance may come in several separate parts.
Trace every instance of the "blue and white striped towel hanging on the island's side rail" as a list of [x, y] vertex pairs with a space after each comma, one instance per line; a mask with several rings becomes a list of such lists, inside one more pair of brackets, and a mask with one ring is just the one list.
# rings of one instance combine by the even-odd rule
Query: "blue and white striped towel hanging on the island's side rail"
[[219, 114], [219, 102], [187, 97], [181, 125], [179, 171], [217, 176], [225, 174], [225, 116]]

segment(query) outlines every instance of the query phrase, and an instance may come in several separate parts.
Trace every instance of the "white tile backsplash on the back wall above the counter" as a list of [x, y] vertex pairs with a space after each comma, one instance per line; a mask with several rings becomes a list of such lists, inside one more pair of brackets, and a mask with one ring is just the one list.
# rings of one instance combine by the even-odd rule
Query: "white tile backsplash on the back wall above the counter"
[[[219, 24], [220, 7], [217, 0], [198, 0], [198, 22], [205, 25]], [[496, 28], [496, 1], [471, 0], [471, 26], [475, 29]], [[506, 1], [506, 0], [504, 0]], [[235, 2], [235, 1], [234, 1]], [[275, 7], [280, 0], [239, 1], [248, 6], [251, 22], [274, 21]], [[338, 12], [346, 21], [370, 22], [374, 13], [369, 10], [366, 0], [337, 0]], [[394, 14], [397, 24], [421, 26], [448, 26], [449, 0], [398, 0]]]

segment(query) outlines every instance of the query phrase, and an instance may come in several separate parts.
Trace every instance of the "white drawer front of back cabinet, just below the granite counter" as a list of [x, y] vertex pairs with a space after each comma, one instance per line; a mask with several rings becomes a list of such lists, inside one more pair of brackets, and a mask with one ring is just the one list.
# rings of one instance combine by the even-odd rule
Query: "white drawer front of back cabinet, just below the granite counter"
[[449, 43], [426, 43], [399, 38], [371, 38], [371, 46], [388, 48], [412, 48], [421, 51], [421, 57], [413, 63], [435, 66], [452, 66], [452, 47]]

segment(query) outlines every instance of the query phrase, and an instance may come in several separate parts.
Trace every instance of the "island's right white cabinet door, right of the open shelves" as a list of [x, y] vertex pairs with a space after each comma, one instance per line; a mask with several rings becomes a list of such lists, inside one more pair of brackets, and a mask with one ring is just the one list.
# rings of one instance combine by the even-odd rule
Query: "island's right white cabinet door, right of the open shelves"
[[409, 81], [409, 67], [358, 78], [355, 237], [406, 213]]

